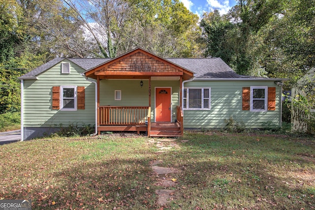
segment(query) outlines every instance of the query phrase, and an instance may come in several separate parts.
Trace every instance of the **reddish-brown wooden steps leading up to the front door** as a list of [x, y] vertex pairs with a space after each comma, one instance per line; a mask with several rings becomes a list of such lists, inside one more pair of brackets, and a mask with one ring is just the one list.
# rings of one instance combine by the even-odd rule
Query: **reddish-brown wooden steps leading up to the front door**
[[180, 137], [181, 127], [176, 122], [155, 122], [151, 124], [151, 137]]

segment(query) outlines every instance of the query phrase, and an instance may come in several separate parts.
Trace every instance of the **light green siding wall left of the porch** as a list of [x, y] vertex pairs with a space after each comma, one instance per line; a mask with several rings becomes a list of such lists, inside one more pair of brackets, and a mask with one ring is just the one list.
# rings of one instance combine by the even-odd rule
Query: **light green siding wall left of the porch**
[[[63, 60], [63, 62], [70, 62]], [[95, 85], [81, 76], [84, 69], [70, 62], [70, 74], [61, 73], [62, 62], [40, 74], [37, 80], [24, 80], [24, 139], [51, 133], [61, 125], [95, 125]], [[85, 109], [61, 111], [52, 108], [54, 86], [85, 87]]]

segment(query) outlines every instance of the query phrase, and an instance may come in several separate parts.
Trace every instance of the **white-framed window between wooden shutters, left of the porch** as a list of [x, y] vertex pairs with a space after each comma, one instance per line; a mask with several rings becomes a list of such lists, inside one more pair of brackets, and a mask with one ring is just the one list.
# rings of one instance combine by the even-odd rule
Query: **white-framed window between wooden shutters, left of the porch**
[[77, 87], [61, 86], [61, 109], [75, 111], [77, 110]]

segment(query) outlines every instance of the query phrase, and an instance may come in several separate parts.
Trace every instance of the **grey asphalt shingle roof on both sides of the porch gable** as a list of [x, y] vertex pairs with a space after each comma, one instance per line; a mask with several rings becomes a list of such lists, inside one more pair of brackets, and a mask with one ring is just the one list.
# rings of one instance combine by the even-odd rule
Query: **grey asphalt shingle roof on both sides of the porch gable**
[[[47, 63], [35, 68], [31, 72], [23, 75], [20, 79], [25, 77], [36, 77], [40, 73], [48, 70], [52, 66], [61, 62], [65, 58], [55, 58]], [[90, 70], [96, 66], [101, 65], [111, 59], [67, 59], [70, 60], [85, 70]], [[194, 73], [195, 78], [240, 78], [245, 77], [238, 75], [220, 58], [204, 58], [204, 59], [166, 59], [176, 65], [179, 65]]]

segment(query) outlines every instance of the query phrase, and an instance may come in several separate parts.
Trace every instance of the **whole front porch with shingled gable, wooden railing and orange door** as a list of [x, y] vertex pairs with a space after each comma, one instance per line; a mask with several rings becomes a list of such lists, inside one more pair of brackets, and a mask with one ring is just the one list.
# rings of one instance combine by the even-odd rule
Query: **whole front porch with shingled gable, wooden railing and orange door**
[[182, 85], [193, 73], [141, 48], [85, 72], [97, 87], [97, 132], [182, 136]]

